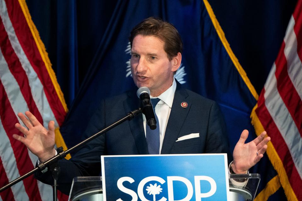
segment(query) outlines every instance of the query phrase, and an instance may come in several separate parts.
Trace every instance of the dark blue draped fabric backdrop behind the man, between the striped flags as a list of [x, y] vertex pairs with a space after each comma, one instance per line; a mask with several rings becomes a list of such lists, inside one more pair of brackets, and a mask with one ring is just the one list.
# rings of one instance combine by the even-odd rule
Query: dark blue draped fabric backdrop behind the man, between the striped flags
[[[60, 129], [68, 147], [79, 142], [100, 99], [134, 86], [127, 71], [128, 36], [134, 25], [149, 16], [167, 20], [179, 30], [184, 43], [183, 84], [219, 103], [230, 149], [243, 129], [250, 131], [248, 141], [255, 138], [249, 115], [257, 101], [222, 46], [202, 1], [26, 2], [70, 109]], [[260, 94], [296, 1], [209, 3]], [[258, 192], [276, 175], [266, 155], [252, 172], [262, 177]], [[282, 188], [269, 200], [286, 200]]]

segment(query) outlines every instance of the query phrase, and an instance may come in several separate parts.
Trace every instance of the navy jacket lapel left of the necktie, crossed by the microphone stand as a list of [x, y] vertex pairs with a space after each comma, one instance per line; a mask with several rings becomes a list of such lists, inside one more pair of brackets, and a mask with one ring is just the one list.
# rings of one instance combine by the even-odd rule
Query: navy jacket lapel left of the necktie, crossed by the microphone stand
[[[129, 98], [124, 101], [126, 114], [140, 106], [140, 100], [137, 98], [135, 90], [131, 90], [128, 96]], [[139, 154], [148, 154], [142, 113], [128, 122]]]

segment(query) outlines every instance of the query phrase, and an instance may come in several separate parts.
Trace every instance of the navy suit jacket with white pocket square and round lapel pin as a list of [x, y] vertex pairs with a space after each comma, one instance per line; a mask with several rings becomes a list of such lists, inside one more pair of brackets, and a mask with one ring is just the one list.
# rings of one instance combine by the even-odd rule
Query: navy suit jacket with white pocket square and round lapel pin
[[[176, 83], [161, 154], [229, 153], [226, 126], [217, 103], [184, 89], [177, 81]], [[102, 100], [90, 120], [84, 138], [137, 109], [140, 100], [136, 96], [136, 90]], [[187, 102], [188, 106], [183, 108], [182, 102]], [[176, 142], [178, 138], [191, 133], [199, 133], [199, 137]], [[62, 170], [58, 189], [69, 194], [74, 177], [100, 175], [101, 155], [141, 154], [148, 154], [142, 114], [92, 140], [72, 155], [70, 160], [60, 160]], [[52, 184], [53, 179], [48, 172], [37, 173], [36, 177]]]

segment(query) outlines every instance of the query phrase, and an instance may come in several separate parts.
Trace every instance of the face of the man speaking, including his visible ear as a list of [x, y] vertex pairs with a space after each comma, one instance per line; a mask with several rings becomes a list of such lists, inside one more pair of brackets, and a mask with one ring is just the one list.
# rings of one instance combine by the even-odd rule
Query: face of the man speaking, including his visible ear
[[[179, 57], [181, 61], [181, 54]], [[131, 48], [131, 73], [134, 83], [137, 87], [148, 87], [152, 96], [160, 95], [172, 85], [174, 71], [179, 67], [179, 61], [176, 59], [174, 57], [169, 61], [164, 42], [159, 38], [135, 36]]]

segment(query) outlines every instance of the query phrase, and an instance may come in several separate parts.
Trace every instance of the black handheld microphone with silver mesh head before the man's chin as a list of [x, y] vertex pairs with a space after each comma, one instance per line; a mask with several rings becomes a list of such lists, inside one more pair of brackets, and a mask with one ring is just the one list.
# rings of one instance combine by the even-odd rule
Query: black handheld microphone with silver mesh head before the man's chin
[[151, 130], [156, 129], [156, 119], [153, 111], [153, 107], [151, 105], [150, 100], [150, 90], [148, 87], [140, 87], [136, 95], [141, 100], [141, 108], [143, 114], [146, 116], [147, 124], [149, 125]]

